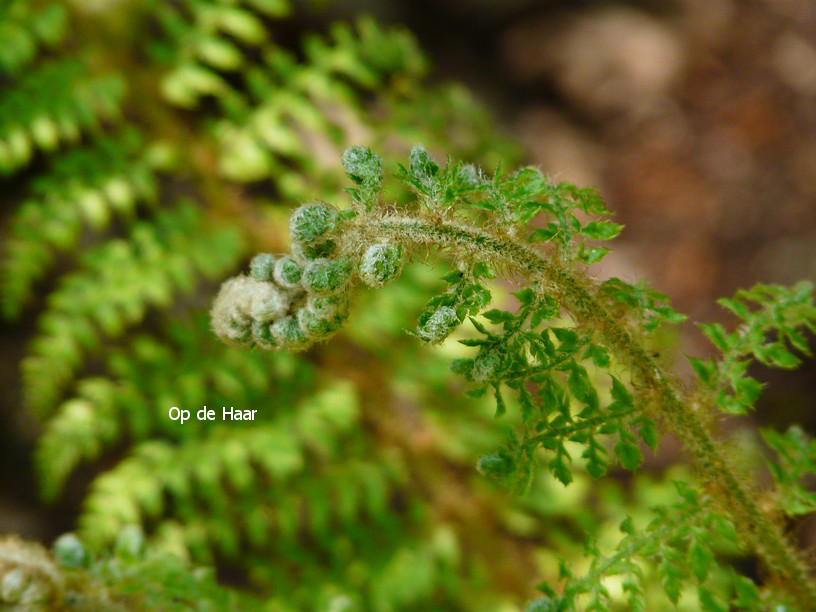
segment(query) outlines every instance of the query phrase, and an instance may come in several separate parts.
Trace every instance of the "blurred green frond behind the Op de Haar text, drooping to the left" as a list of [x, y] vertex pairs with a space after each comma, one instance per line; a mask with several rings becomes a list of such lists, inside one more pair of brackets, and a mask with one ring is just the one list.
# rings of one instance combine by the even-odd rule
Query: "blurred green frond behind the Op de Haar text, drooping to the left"
[[[193, 420], [179, 428], [167, 418], [171, 406], [220, 410], [262, 402], [279, 364], [287, 361], [214, 344], [203, 318], [167, 327], [164, 336], [139, 335], [127, 347], [113, 349], [106, 360], [109, 376], [80, 380], [74, 396], [48, 420], [36, 453], [43, 497], [53, 499], [80, 462], [126, 438], [184, 440], [206, 426]], [[290, 396], [279, 392], [278, 397], [288, 401]]]

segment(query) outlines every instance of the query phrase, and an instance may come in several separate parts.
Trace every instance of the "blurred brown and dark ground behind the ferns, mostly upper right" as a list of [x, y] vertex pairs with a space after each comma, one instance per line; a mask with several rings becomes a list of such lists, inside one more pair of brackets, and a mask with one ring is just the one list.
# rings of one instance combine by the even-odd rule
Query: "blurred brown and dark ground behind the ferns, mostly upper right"
[[[88, 23], [97, 10], [117, 10], [115, 2], [74, 4]], [[404, 24], [431, 58], [432, 80], [471, 89], [522, 145], [524, 162], [597, 186], [626, 225], [597, 275], [649, 279], [692, 320], [723, 322], [714, 300], [737, 287], [816, 280], [816, 3], [349, 0], [296, 7], [277, 31], [293, 47], [304, 33], [361, 13]], [[39, 500], [31, 465], [38, 426], [21, 406], [19, 379], [36, 314], [1, 328], [0, 532], [47, 542], [72, 528], [90, 472], [58, 503]], [[710, 351], [691, 323], [673, 343], [680, 355]], [[337, 359], [325, 363], [341, 368]], [[676, 367], [688, 373], [684, 360]], [[816, 430], [816, 362], [754, 375], [771, 383], [752, 417], [757, 424]], [[670, 463], [673, 452], [669, 443], [661, 461]], [[478, 512], [469, 518], [478, 520]]]

